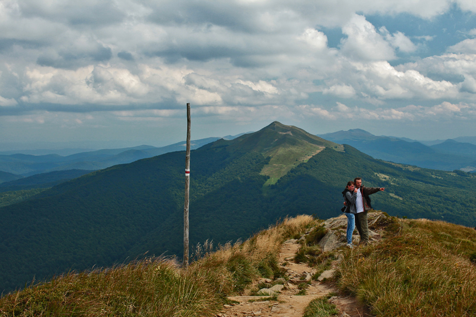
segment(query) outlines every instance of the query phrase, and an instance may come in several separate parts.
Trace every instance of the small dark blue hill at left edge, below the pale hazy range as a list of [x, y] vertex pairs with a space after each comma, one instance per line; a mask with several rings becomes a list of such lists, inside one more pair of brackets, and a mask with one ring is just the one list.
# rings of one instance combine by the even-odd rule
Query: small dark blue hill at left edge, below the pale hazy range
[[72, 169], [36, 174], [33, 176], [16, 179], [15, 181], [3, 182], [0, 184], [0, 192], [26, 190], [31, 188], [48, 188], [79, 176], [83, 176], [90, 172], [90, 170]]

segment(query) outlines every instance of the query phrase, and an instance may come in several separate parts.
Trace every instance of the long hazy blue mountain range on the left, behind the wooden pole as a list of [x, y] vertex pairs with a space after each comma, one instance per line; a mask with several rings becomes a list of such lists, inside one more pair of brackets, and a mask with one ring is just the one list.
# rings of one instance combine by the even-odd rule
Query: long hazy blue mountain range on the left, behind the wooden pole
[[[237, 136], [241, 135], [243, 134]], [[225, 136], [224, 138], [233, 139], [237, 136]], [[192, 150], [197, 149], [218, 139], [220, 139], [220, 137], [207, 137], [200, 140], [193, 140], [191, 141], [190, 148]], [[67, 156], [61, 156], [58, 154], [3, 154], [0, 155], [0, 171], [28, 177], [52, 171], [73, 169], [98, 170], [118, 164], [131, 163], [143, 158], [153, 157], [168, 152], [183, 151], [184, 148], [185, 141], [161, 148], [156, 148], [150, 145], [141, 145], [133, 148], [79, 152]]]

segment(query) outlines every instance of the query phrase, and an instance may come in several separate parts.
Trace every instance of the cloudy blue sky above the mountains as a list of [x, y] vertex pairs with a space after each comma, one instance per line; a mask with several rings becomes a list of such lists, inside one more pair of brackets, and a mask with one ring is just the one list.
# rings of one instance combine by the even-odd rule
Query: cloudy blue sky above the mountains
[[0, 151], [476, 136], [474, 0], [0, 0]]

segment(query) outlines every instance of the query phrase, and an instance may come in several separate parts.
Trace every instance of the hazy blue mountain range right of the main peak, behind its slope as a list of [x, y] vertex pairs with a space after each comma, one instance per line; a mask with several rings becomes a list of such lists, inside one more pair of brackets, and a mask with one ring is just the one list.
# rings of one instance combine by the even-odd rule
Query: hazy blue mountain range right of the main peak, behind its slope
[[428, 146], [394, 136], [374, 136], [361, 129], [319, 136], [336, 143], [349, 144], [359, 151], [385, 161], [448, 171], [476, 169], [476, 145], [455, 140]]

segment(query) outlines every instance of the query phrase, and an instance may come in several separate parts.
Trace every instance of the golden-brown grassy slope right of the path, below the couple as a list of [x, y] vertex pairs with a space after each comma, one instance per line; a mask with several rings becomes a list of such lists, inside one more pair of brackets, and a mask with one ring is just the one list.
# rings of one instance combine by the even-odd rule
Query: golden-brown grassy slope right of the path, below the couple
[[400, 234], [346, 250], [339, 287], [367, 303], [375, 316], [476, 316], [476, 251], [472, 228], [398, 220]]

